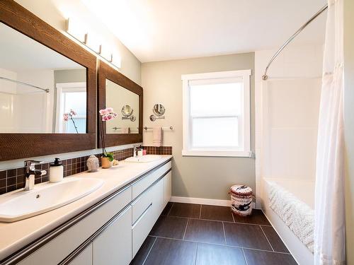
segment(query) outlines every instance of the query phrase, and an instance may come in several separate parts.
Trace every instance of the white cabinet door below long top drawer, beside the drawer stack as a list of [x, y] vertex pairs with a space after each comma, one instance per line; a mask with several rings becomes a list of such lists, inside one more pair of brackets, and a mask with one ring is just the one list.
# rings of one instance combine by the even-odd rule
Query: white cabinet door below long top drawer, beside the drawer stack
[[93, 240], [93, 265], [130, 263], [132, 260], [131, 222], [132, 206], [129, 206]]

